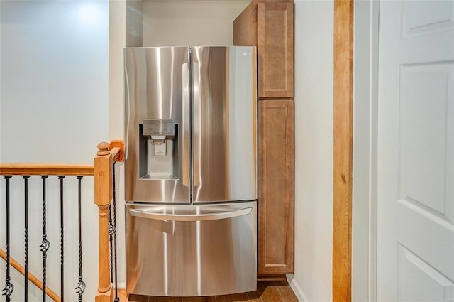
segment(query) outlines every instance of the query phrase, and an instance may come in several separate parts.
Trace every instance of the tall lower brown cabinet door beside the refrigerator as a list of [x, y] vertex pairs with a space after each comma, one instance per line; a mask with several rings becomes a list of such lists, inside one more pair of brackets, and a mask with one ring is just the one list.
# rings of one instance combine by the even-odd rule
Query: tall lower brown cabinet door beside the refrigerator
[[258, 102], [258, 274], [294, 264], [294, 102]]

